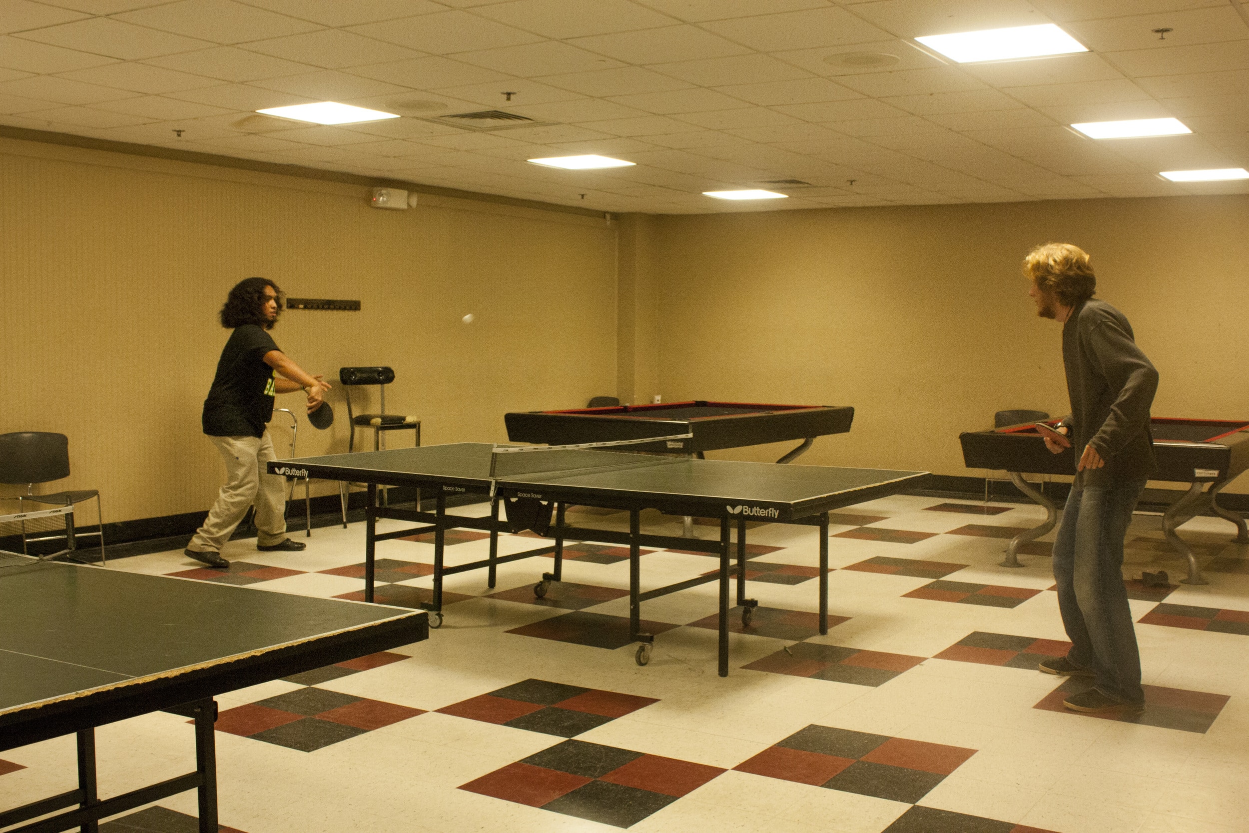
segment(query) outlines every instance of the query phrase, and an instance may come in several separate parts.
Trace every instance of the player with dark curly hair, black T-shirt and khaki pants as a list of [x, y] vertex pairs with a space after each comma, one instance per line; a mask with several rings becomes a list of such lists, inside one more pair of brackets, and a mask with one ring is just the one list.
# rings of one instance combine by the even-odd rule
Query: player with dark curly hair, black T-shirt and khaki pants
[[296, 552], [306, 546], [286, 537], [284, 478], [265, 473], [265, 463], [276, 460], [265, 425], [274, 416], [276, 393], [307, 391], [311, 413], [330, 385], [277, 348], [269, 331], [281, 311], [281, 290], [265, 277], [240, 281], [221, 307], [221, 326], [234, 332], [221, 351], [202, 420], [204, 433], [225, 460], [229, 482], [186, 547], [187, 556], [209, 567], [230, 566], [221, 547], [252, 505], [257, 550]]

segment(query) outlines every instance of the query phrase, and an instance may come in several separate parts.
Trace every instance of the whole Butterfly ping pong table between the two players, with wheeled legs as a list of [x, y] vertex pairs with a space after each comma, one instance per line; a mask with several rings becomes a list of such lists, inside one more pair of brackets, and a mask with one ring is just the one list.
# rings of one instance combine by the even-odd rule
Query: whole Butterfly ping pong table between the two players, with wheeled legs
[[[535, 586], [545, 596], [551, 582], [561, 581], [563, 543], [596, 541], [627, 545], [629, 548], [629, 636], [638, 642], [638, 664], [649, 661], [653, 636], [641, 632], [641, 603], [659, 596], [712, 581], [719, 582], [719, 676], [728, 674], [728, 611], [731, 579], [731, 528], [737, 535], [737, 604], [749, 624], [756, 599], [746, 598], [746, 522], [769, 521], [819, 527], [819, 632], [828, 632], [828, 512], [852, 503], [922, 488], [927, 472], [876, 468], [837, 468], [782, 463], [696, 460], [628, 453], [618, 446], [654, 442], [666, 437], [621, 443], [578, 446], [493, 446], [461, 442], [420, 448], [366, 451], [323, 457], [274, 461], [271, 475], [292, 475], [367, 485], [365, 512], [365, 601], [373, 599], [373, 563], [378, 541], [433, 533], [432, 601], [423, 607], [432, 616], [431, 627], [442, 622], [442, 582], [446, 576], [487, 569], [487, 587], [495, 587], [500, 564], [553, 555], [555, 566]], [[617, 446], [605, 451], [600, 446]], [[418, 508], [378, 506], [380, 486], [410, 486], [436, 495], [433, 512]], [[490, 501], [490, 515], [467, 517], [447, 512], [448, 496], [476, 495]], [[500, 520], [502, 506], [506, 520]], [[629, 513], [629, 531], [572, 527], [566, 521], [568, 506], [615, 508]], [[642, 510], [667, 515], [719, 520], [716, 541], [643, 533]], [[552, 520], [553, 516], [553, 520]], [[378, 532], [377, 521], [391, 518], [423, 523]], [[446, 566], [445, 538], [448, 530], [481, 530], [490, 533], [485, 559]], [[523, 552], [498, 555], [500, 532], [532, 530], [553, 545]], [[639, 548], [658, 547], [706, 552], [718, 556], [719, 568], [707, 576], [642, 591]]]

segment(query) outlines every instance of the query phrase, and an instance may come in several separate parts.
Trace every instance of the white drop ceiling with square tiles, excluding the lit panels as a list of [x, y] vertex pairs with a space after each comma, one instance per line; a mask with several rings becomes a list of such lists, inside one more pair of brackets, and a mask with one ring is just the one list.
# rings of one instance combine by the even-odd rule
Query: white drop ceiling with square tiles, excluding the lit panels
[[[1157, 177], [1249, 164], [1234, 1], [964, 0], [952, 15], [947, 0], [12, 0], [0, 124], [605, 211], [1249, 192]], [[1094, 51], [959, 66], [906, 40], [1050, 21]], [[824, 61], [857, 51], [899, 60]], [[254, 114], [326, 99], [406, 117]], [[555, 124], [428, 121], [485, 107]], [[1065, 126], [1163, 115], [1197, 135], [1094, 144]], [[571, 152], [638, 165], [525, 162]], [[809, 186], [766, 205], [699, 194], [791, 179]]]

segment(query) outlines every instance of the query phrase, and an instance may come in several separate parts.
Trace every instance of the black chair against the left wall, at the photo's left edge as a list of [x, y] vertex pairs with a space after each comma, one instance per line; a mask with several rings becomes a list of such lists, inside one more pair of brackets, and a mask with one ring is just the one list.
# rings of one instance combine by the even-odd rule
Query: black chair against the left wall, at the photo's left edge
[[99, 532], [75, 532], [74, 516], [65, 516], [65, 533], [31, 538], [26, 535], [26, 525], [21, 526], [21, 551], [26, 552], [27, 542], [55, 541], [65, 538], [66, 547], [72, 551], [77, 538], [100, 538], [100, 562], [109, 563], [104, 548], [104, 507], [100, 492], [94, 488], [35, 495], [35, 483], [50, 483], [70, 476], [70, 441], [64, 433], [46, 431], [16, 431], [0, 433], [0, 483], [25, 483], [26, 493], [15, 495], [19, 503], [51, 503], [54, 506], [72, 506], [95, 498], [96, 517], [100, 521]]

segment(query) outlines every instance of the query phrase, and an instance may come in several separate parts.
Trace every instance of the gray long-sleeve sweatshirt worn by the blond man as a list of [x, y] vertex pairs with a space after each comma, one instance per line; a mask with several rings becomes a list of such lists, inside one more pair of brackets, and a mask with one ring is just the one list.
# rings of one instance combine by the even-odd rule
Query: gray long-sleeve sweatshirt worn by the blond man
[[1157, 471], [1149, 406], [1158, 371], [1133, 340], [1132, 325], [1105, 301], [1077, 305], [1063, 325], [1063, 366], [1072, 412], [1063, 417], [1075, 458], [1093, 446], [1105, 467], [1085, 483], [1115, 477], [1135, 480]]

